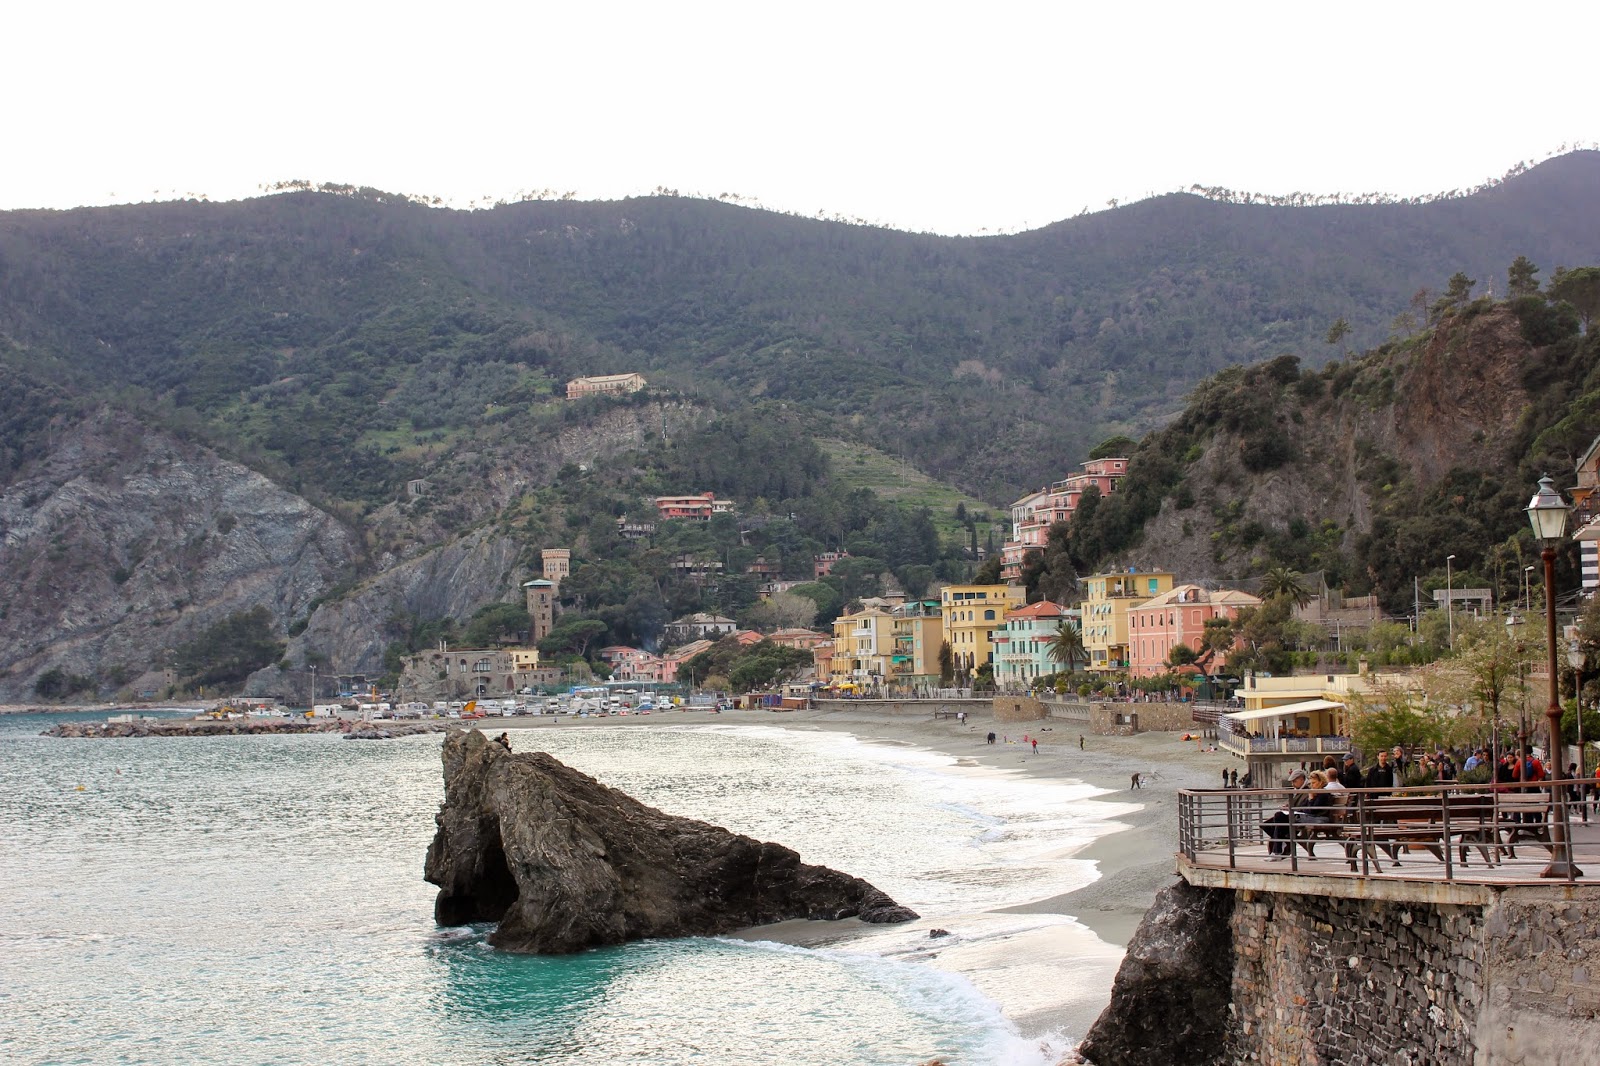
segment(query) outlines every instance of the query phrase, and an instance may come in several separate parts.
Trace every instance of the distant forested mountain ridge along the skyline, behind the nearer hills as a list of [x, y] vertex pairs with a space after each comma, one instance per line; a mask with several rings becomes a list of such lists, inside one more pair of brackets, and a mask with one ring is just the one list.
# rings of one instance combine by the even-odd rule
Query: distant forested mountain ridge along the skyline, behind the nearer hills
[[794, 403], [1002, 501], [1227, 365], [1320, 363], [1339, 319], [1350, 344], [1379, 343], [1456, 271], [1600, 261], [1597, 187], [1600, 154], [1574, 152], [1462, 198], [1165, 195], [982, 238], [672, 197], [11, 211], [0, 331], [6, 363], [197, 419], [342, 499], [414, 472], [386, 434], [642, 370], [717, 403]]

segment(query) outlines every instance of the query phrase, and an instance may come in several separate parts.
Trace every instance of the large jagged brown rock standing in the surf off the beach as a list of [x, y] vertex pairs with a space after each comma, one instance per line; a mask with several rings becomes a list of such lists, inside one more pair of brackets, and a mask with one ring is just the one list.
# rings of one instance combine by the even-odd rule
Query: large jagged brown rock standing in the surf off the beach
[[443, 759], [424, 874], [438, 885], [434, 916], [499, 922], [498, 948], [558, 954], [787, 919], [917, 917], [859, 877], [664, 815], [547, 754], [514, 755], [470, 731], [446, 736]]

